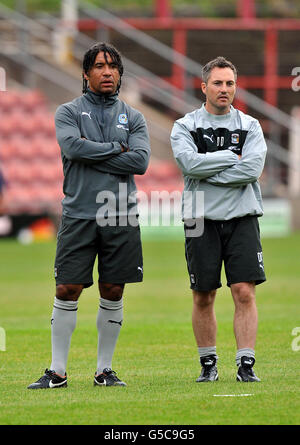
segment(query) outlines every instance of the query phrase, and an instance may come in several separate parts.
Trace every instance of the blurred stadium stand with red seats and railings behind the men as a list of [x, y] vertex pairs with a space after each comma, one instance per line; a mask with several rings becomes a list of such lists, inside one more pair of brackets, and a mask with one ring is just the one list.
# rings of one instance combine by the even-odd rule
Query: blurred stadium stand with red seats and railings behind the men
[[260, 121], [268, 145], [260, 178], [263, 231], [298, 227], [291, 224], [291, 207], [297, 208], [291, 187], [300, 171], [292, 110], [300, 93], [292, 90], [290, 73], [300, 66], [294, 49], [300, 45], [299, 2], [103, 4], [0, 0], [0, 66], [7, 83], [0, 92], [0, 161], [14, 221], [21, 215], [60, 219], [63, 175], [53, 116], [59, 104], [81, 94], [83, 55], [102, 40], [121, 51], [120, 97], [144, 114], [149, 128], [152, 156], [146, 174], [136, 177], [139, 190], [150, 196], [183, 189], [170, 132], [175, 119], [205, 100], [202, 66], [224, 55], [239, 72], [234, 106]]

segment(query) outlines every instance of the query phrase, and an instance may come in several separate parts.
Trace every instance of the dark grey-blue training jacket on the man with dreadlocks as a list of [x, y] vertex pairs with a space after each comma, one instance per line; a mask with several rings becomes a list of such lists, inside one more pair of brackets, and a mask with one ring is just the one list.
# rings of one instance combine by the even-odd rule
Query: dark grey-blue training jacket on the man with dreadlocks
[[[58, 107], [55, 126], [64, 171], [63, 214], [95, 219], [104, 204], [96, 202], [97, 195], [107, 191], [116, 197], [116, 216], [120, 215], [119, 184], [126, 184], [127, 197], [134, 194], [133, 175], [144, 174], [149, 162], [143, 115], [117, 94], [107, 97], [88, 90]], [[122, 152], [121, 144], [129, 151]], [[127, 212], [133, 206], [135, 203], [129, 203]]]

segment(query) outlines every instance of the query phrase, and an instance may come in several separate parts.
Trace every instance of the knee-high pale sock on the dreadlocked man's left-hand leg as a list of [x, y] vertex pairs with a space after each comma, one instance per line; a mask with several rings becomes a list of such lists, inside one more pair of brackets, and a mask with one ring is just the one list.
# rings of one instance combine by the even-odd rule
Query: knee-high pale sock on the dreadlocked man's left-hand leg
[[76, 326], [78, 301], [54, 298], [51, 319], [52, 362], [50, 369], [64, 376], [72, 333]]

